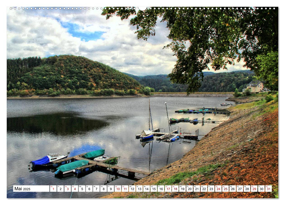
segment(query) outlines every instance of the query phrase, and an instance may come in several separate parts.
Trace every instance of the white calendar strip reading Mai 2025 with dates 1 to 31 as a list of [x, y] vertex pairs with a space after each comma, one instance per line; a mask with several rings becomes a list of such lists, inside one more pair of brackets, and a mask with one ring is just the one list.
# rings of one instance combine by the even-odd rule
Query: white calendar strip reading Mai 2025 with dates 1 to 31
[[272, 185], [14, 185], [14, 192], [272, 192]]

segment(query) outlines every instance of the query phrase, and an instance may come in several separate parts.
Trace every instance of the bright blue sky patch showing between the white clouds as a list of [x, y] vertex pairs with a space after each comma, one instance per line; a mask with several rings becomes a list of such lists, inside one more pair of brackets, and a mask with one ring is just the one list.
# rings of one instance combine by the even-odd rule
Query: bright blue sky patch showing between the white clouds
[[63, 28], [67, 28], [68, 33], [70, 33], [73, 37], [78, 37], [81, 40], [85, 41], [100, 39], [102, 34], [105, 33], [103, 31], [81, 32], [79, 31], [79, 25], [75, 23], [60, 22], [60, 24], [63, 26]]

